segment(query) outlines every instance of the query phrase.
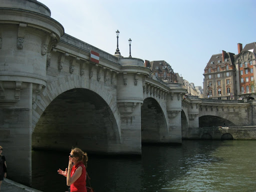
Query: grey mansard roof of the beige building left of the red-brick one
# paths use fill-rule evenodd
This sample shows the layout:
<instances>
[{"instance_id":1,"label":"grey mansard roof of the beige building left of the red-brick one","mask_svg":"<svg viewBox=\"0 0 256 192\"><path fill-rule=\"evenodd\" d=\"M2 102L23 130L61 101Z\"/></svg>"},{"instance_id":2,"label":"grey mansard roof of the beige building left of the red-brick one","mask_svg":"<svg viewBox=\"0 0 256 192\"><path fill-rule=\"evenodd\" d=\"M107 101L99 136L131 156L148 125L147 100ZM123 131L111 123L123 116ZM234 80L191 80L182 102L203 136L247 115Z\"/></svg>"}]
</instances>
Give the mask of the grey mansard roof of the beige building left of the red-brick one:
<instances>
[{"instance_id":1,"label":"grey mansard roof of the beige building left of the red-brick one","mask_svg":"<svg viewBox=\"0 0 256 192\"><path fill-rule=\"evenodd\" d=\"M206 70L208 67L211 67L213 69L216 68L217 66L225 67L226 63L228 63L229 65L233 64L234 63L234 53L225 52L225 51L223 51L223 52L224 52L224 58L222 58L222 53L211 55L204 70ZM225 61L225 59L227 59L227 61Z\"/></svg>"}]
</instances>

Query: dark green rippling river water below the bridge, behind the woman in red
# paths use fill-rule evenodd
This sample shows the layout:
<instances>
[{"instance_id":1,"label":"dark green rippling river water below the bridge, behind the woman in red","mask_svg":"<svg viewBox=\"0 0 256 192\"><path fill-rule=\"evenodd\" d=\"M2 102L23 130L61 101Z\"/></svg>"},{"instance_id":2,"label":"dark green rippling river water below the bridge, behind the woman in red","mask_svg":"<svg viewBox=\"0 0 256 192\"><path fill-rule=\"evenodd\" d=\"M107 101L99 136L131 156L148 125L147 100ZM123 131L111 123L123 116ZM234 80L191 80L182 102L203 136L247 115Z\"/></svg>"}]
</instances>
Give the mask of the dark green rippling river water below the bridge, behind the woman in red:
<instances>
[{"instance_id":1,"label":"dark green rippling river water below the bridge, behind the woman in red","mask_svg":"<svg viewBox=\"0 0 256 192\"><path fill-rule=\"evenodd\" d=\"M142 145L141 157L93 156L87 171L95 192L256 191L256 140L183 140ZM67 190L66 152L32 151L32 187Z\"/></svg>"}]
</instances>

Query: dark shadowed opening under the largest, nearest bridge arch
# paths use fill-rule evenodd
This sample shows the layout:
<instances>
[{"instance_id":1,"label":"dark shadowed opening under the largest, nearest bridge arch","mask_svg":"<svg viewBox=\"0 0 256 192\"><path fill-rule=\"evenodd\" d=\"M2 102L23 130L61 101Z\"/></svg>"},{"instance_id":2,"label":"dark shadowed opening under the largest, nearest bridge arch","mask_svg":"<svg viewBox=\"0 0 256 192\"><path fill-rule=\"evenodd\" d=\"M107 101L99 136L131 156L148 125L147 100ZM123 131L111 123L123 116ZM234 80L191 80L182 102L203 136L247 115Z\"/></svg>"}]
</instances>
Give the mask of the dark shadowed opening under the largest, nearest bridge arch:
<instances>
[{"instance_id":1,"label":"dark shadowed opening under the largest, nearest bridge arch","mask_svg":"<svg viewBox=\"0 0 256 192\"><path fill-rule=\"evenodd\" d=\"M33 149L107 152L120 143L116 119L105 100L86 88L73 88L55 97L32 132Z\"/></svg>"}]
</instances>

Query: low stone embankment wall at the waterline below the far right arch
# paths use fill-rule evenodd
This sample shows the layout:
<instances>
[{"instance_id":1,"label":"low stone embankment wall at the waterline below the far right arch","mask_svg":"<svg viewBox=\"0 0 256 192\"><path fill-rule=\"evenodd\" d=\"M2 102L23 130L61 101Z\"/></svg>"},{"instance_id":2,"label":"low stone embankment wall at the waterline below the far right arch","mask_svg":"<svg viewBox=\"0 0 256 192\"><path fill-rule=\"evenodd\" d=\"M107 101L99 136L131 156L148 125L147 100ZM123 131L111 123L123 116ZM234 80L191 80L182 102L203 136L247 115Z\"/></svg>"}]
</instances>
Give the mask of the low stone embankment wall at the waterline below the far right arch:
<instances>
[{"instance_id":1,"label":"low stone embankment wall at the waterline below the far right arch","mask_svg":"<svg viewBox=\"0 0 256 192\"><path fill-rule=\"evenodd\" d=\"M212 126L190 128L182 139L256 140L256 126Z\"/></svg>"}]
</instances>

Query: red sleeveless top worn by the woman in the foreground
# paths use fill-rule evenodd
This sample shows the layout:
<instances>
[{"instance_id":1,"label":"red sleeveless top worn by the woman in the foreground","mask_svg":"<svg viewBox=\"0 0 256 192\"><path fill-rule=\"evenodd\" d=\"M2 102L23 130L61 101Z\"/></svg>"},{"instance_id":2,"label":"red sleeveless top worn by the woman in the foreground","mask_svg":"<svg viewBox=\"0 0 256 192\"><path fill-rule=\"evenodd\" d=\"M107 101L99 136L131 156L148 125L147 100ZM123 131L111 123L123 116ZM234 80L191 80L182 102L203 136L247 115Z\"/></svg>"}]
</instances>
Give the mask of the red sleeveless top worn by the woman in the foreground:
<instances>
[{"instance_id":1,"label":"red sleeveless top worn by the woman in the foreground","mask_svg":"<svg viewBox=\"0 0 256 192\"><path fill-rule=\"evenodd\" d=\"M79 178L77 178L76 181L74 181L71 185L70 185L70 192L87 192L86 190L86 169L84 164L82 163L82 161L78 162L76 165L74 165L71 169L71 177L73 175L73 173L75 172L75 170L78 168L78 166L82 167L82 173L79 176Z\"/></svg>"}]
</instances>

